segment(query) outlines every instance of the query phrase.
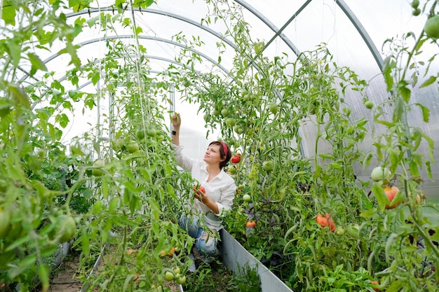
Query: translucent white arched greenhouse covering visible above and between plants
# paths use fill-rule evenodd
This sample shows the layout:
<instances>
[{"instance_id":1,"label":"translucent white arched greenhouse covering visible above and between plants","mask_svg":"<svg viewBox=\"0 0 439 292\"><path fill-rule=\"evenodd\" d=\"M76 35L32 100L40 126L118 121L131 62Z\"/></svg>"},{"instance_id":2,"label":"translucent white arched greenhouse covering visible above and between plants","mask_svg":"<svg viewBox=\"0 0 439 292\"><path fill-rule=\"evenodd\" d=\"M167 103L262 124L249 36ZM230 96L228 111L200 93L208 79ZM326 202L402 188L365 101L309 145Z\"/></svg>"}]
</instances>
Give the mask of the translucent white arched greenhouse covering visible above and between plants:
<instances>
[{"instance_id":1,"label":"translucent white arched greenhouse covering visible above and between plants","mask_svg":"<svg viewBox=\"0 0 439 292\"><path fill-rule=\"evenodd\" d=\"M3 1L2 18L6 22L10 22L12 16L15 16L11 14L11 6L8 6L13 3L20 1ZM61 2L50 0L48 3L41 2L35 5L41 9L49 9L50 6L59 3ZM190 68L199 74L222 76L221 78L229 84L236 82L231 78L231 73L236 71L237 60L246 62L248 66L254 67L255 71L260 71L259 64L255 62L258 57L267 61L292 64L298 58L303 58L306 52L325 48L331 56L331 62L335 62L339 67L349 68L366 83L363 92L344 92L344 102L352 109L353 120L363 116L372 119L372 113L363 106L365 99L372 100L374 104L389 99L391 93L386 90L386 82L381 73L386 66L384 60L394 53L396 44L410 47L422 33L428 18L428 7L425 6L420 15L415 15L417 13L414 13L414 8L403 0L74 0L69 1L69 4L62 8L62 12L67 24L72 27L76 25L77 31L73 32L75 37L72 46L66 46L65 41L57 41L56 37L50 50L42 48L43 46L34 46L32 51L43 62L41 68L45 70L32 72L31 69L40 61L30 60L31 58L29 62L23 61L18 67L21 73L17 74L21 83L39 82L46 78L46 72L53 72L53 78L64 84L68 90L97 90L100 83L83 76L75 77L78 80L72 85L72 69L80 70L88 64L100 64L102 69L104 62L109 59L106 55L109 48L117 46L119 41L124 46L131 46L133 50L112 58L121 63L126 62L127 58L147 60L149 74L151 78L156 78L156 81L169 78L170 68L177 71L178 68ZM102 15L106 15L105 20ZM4 25L3 22L2 26ZM16 22L13 25L20 29L26 26L26 22ZM33 29L50 31L44 24ZM233 37L237 29L245 31L245 39ZM5 36L10 36L11 33L4 29ZM423 54L419 55L417 64L428 62L428 57L436 52L436 43L424 43ZM198 62L189 60L191 57ZM400 60L404 60L405 57L407 56L401 55ZM2 60L5 62L7 59L3 57ZM294 69L285 65L284 74L294 74ZM417 74L417 83L411 89L412 102L424 104L430 110L430 122L422 122L421 111L412 111L407 118L430 137L439 137L437 86L419 88L428 78L422 74L422 70L419 69L421 73ZM438 62L428 62L428 70L438 71ZM99 77L97 79L100 81ZM411 82L414 83L413 80ZM172 99L175 99L174 95L177 99L175 104L178 104L182 92L173 92ZM38 107L42 101L35 102L33 106ZM184 111L194 105L182 102L180 106L182 107L177 108L178 111ZM391 108L386 106L384 105L384 109L390 111ZM84 127L100 123L100 117L97 116L108 110L106 106L102 106L101 111L90 113L90 120L76 119L65 139L78 134L74 129L81 132L81 123ZM204 131L202 115L193 116L193 130L199 134ZM377 131L379 132L379 129ZM312 141L316 137L316 124L303 123L299 134L302 137L302 155L310 157L314 148ZM370 143L366 138L365 148ZM438 174L439 171L435 169L434 172Z\"/></svg>"}]
</instances>

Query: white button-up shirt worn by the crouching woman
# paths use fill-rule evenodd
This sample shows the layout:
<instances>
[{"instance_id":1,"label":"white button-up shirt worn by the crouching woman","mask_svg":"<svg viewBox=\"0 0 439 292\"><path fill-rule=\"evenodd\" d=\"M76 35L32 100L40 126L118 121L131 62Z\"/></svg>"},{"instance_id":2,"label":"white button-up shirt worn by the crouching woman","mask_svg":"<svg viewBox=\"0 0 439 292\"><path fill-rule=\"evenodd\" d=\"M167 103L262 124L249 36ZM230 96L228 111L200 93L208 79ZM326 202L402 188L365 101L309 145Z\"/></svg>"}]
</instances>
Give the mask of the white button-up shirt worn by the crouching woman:
<instances>
[{"instance_id":1,"label":"white button-up shirt worn by the crouching woman","mask_svg":"<svg viewBox=\"0 0 439 292\"><path fill-rule=\"evenodd\" d=\"M217 204L219 213L215 214L209 207L203 204L203 202L198 200L194 200L191 209L193 209L194 213L198 216L204 214L203 218L208 228L220 230L223 228L222 216L231 210L234 202L236 193L235 180L224 172L224 170L221 170L217 176L208 182L208 167L205 162L184 155L183 146L181 145L175 146L175 144L172 144L172 146L177 164L182 167L182 169L191 172L192 177L199 181L205 188L205 194L209 200Z\"/></svg>"}]
</instances>

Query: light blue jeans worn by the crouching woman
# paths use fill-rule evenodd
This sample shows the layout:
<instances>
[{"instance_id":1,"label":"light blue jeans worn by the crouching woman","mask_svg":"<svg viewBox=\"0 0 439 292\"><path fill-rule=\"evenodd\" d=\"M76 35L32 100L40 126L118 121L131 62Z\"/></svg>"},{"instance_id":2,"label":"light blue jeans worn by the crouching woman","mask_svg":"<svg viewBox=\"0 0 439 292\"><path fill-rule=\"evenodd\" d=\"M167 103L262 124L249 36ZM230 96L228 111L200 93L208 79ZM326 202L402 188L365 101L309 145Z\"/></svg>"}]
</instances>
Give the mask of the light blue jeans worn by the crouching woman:
<instances>
[{"instance_id":1,"label":"light blue jeans worn by the crouching woman","mask_svg":"<svg viewBox=\"0 0 439 292\"><path fill-rule=\"evenodd\" d=\"M217 232L206 232L199 223L200 218L195 215L187 216L182 214L178 219L180 228L186 230L189 235L195 238L195 246L201 254L212 255L217 252Z\"/></svg>"}]
</instances>

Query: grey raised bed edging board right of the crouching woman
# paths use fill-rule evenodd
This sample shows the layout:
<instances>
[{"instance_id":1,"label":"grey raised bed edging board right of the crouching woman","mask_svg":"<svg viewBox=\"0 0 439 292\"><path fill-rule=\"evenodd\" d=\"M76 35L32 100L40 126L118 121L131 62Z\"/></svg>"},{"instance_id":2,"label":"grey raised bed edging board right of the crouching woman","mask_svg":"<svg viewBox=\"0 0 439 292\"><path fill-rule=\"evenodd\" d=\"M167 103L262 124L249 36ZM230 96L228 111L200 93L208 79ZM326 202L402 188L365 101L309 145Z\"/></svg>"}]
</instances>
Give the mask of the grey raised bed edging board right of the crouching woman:
<instances>
[{"instance_id":1,"label":"grey raised bed edging board right of the crouching woman","mask_svg":"<svg viewBox=\"0 0 439 292\"><path fill-rule=\"evenodd\" d=\"M221 237L220 251L222 261L226 267L236 274L241 272L239 268L248 267L257 269L261 279L262 292L293 292L281 279L271 272L263 263L247 251L227 230L219 231Z\"/></svg>"}]
</instances>

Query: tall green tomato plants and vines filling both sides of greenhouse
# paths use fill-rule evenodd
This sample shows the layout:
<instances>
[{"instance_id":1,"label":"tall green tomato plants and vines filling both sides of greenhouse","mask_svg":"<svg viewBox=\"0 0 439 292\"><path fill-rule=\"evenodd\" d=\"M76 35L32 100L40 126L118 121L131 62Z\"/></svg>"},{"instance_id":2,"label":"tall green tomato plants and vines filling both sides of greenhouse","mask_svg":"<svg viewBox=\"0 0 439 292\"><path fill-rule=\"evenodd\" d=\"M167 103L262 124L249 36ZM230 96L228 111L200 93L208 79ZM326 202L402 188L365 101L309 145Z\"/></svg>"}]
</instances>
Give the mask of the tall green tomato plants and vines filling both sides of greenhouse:
<instances>
[{"instance_id":1,"label":"tall green tomato plants and vines filling both sides of greenhouse","mask_svg":"<svg viewBox=\"0 0 439 292\"><path fill-rule=\"evenodd\" d=\"M170 152L165 120L174 85L186 102L200 104L206 134L220 127L232 151L241 153L231 171L240 192L224 225L294 291L372 291L371 281L387 291L435 291L438 207L422 194L423 174L433 179L434 145L417 124L430 122L428 106L413 102L414 87L437 83L431 73L436 55L422 60L423 49L435 41L424 31L384 43L389 99L379 102L365 96L367 82L339 67L324 43L294 62L286 55L269 60L264 42L250 37L248 23L229 1L206 1L214 13L201 20L207 26L224 22L224 40L236 43L229 74L196 71L203 59L192 49L203 41L179 33L174 40L185 47L175 60L182 66L170 64L158 78L151 78L147 48L141 45L107 39L102 60L83 64L77 55L74 40L84 26L116 32L123 25L133 36L142 33L124 15L128 1L114 1L117 13L80 16L74 23L67 21L65 9L82 11L91 1L43 2L23 6L7 0L1 14L6 24L0 40L2 287L30 289L39 279L47 288L50 256L64 237L60 230L67 216L81 227L73 230L72 244L81 251L79 277L89 288L153 290L165 286L166 269L187 272L188 263L182 262L193 239L176 222L194 181L177 169ZM153 2L133 7L141 10ZM414 16L437 14L435 1L413 1L412 8ZM414 45L407 46L409 41ZM58 54L70 58L64 79L48 71L36 50L51 51L55 43L62 43ZM219 69L226 45L217 43ZM22 68L38 80L22 79ZM77 89L83 80L99 83L99 91ZM374 100L373 119L353 118L348 96ZM72 123L67 113L80 106L83 112L100 109L102 97L112 100L111 114L63 144ZM419 111L422 120L411 120L410 111ZM316 129L309 158L304 158L304 127ZM367 134L373 148L362 153ZM102 165L94 165L96 159ZM264 167L267 161L273 169ZM390 169L389 184L358 179L357 169L374 164ZM395 209L386 209L386 185L401 190ZM243 200L245 194L250 202ZM316 223L325 213L335 232ZM247 228L248 221L256 226ZM89 277L100 255L104 268ZM188 275L187 287L214 288L219 279L213 272L201 267ZM228 273L224 267L219 272ZM222 287L230 291L259 291L254 271L228 276Z\"/></svg>"}]
</instances>

